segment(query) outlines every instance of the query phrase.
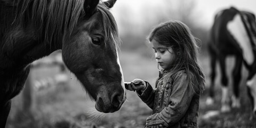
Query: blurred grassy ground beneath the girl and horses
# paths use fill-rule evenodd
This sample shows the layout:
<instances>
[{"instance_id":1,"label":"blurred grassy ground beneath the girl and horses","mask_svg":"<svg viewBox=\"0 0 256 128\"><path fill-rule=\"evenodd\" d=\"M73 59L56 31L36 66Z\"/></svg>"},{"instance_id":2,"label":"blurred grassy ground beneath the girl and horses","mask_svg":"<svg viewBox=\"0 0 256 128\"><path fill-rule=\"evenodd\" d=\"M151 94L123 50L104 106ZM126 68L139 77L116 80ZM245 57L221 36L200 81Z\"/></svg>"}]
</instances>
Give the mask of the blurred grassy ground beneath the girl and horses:
<instances>
[{"instance_id":1,"label":"blurred grassy ground beneath the girl and horses","mask_svg":"<svg viewBox=\"0 0 256 128\"><path fill-rule=\"evenodd\" d=\"M124 72L125 81L141 78L154 85L158 75L156 62L150 58L149 53L122 52L119 55ZM206 84L209 85L209 58L207 55L200 57L206 75ZM228 61L233 61L229 59ZM228 70L233 65L229 62ZM219 70L219 69L218 69ZM41 73L41 74L39 74ZM36 78L50 76L58 73L57 67L41 68L31 71ZM77 79L71 74L67 85L59 85L57 90L50 90L44 94L34 94L34 105L31 114L25 113L22 107L21 94L13 99L11 113L7 128L23 127L143 127L151 110L143 103L135 92L127 92L127 101L121 110L113 114L99 114ZM230 75L230 73L228 74ZM243 76L246 71L243 70ZM216 80L216 102L213 106L206 106L205 99L208 90L202 94L199 113L199 127L256 127L255 117L251 114L250 102L246 94L245 85L241 85L240 109L233 109L230 113L221 113L211 118L203 118L208 111L220 109L220 82ZM242 83L245 83L244 79ZM207 86L208 87L208 86ZM231 87L230 87L231 89Z\"/></svg>"}]
</instances>

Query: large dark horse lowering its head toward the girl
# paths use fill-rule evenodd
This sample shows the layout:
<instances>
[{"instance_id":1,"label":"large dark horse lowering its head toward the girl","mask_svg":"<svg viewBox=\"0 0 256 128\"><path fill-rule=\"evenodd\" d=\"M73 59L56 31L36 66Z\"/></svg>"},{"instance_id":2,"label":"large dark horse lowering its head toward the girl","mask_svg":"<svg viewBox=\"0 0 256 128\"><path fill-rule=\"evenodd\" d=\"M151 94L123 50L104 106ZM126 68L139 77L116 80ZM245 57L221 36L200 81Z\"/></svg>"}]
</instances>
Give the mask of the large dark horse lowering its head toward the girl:
<instances>
[{"instance_id":1,"label":"large dark horse lowering its head toward the girl","mask_svg":"<svg viewBox=\"0 0 256 128\"><path fill-rule=\"evenodd\" d=\"M62 50L62 58L103 113L126 100L117 49L116 0L0 0L0 127L23 89L30 63Z\"/></svg>"}]
</instances>

